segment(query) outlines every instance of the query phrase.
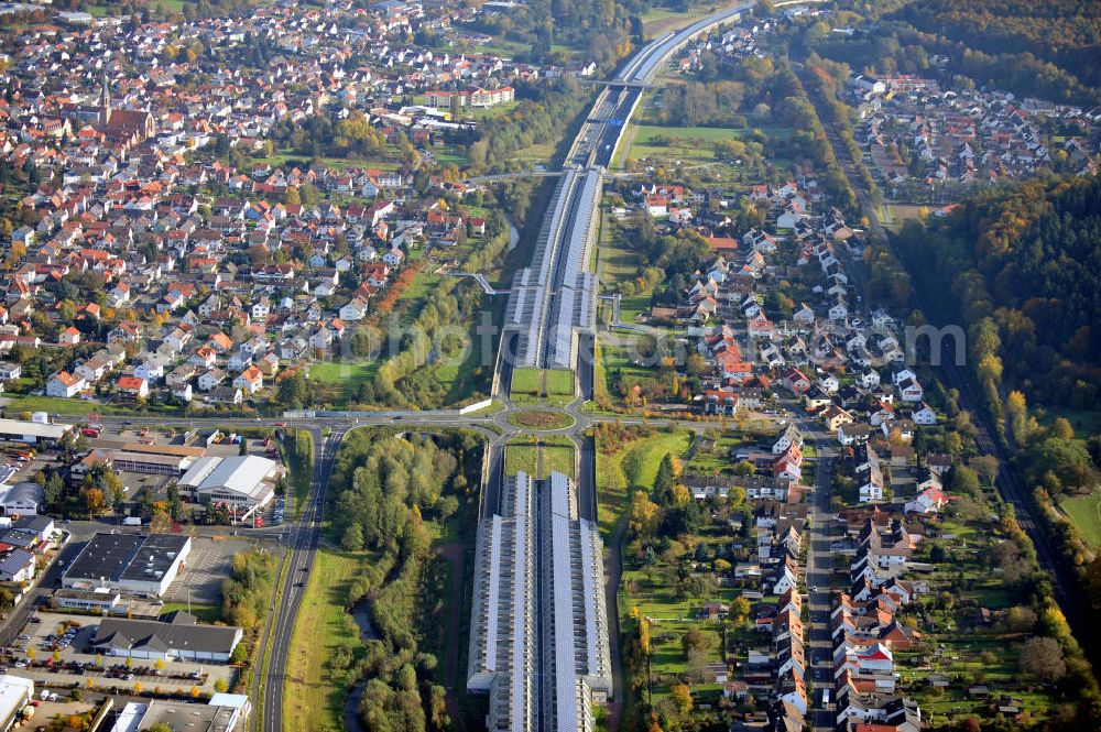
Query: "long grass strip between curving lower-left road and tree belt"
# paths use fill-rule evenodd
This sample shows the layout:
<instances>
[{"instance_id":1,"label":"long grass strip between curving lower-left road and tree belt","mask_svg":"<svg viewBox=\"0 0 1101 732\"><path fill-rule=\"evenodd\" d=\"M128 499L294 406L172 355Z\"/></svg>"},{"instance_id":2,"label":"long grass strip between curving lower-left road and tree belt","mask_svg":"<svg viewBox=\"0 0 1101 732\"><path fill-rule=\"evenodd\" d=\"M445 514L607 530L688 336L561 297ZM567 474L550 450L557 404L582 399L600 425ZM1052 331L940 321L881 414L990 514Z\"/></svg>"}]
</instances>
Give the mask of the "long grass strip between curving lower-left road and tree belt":
<instances>
[{"instance_id":1,"label":"long grass strip between curving lower-left road and tree belt","mask_svg":"<svg viewBox=\"0 0 1101 732\"><path fill-rule=\"evenodd\" d=\"M328 662L340 645L353 649L362 645L351 615L345 612L345 598L366 556L326 548L316 555L291 636L283 687L284 730L344 729L341 711L350 679L334 673Z\"/></svg>"}]
</instances>

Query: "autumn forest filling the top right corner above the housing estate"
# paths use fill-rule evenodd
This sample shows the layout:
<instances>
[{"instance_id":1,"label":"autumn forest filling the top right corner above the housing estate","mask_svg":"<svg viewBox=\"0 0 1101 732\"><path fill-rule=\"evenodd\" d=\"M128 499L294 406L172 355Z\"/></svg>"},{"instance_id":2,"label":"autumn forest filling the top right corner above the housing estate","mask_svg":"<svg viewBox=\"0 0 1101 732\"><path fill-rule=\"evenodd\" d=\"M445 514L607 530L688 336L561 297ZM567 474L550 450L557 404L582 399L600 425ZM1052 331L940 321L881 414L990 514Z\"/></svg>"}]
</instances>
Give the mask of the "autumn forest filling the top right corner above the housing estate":
<instances>
[{"instance_id":1,"label":"autumn forest filling the top right corner above the housing estate","mask_svg":"<svg viewBox=\"0 0 1101 732\"><path fill-rule=\"evenodd\" d=\"M1082 0L929 0L846 3L839 25L825 23L804 41L857 72L966 77L1022 96L1083 106L1101 101L1101 4ZM861 26L860 20L871 21ZM945 64L935 63L940 56Z\"/></svg>"}]
</instances>

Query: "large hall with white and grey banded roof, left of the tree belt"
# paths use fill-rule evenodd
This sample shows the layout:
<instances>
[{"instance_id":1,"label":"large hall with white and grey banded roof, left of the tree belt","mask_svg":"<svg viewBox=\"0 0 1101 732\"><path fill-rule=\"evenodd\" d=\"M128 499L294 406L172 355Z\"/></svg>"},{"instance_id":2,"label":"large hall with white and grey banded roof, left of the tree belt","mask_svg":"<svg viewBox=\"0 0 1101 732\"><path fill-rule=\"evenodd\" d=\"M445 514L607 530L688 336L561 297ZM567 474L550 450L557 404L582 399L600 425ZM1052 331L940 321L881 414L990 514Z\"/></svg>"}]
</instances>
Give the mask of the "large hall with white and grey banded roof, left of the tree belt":
<instances>
[{"instance_id":1,"label":"large hall with white and grey banded roof, left of the tree belt","mask_svg":"<svg viewBox=\"0 0 1101 732\"><path fill-rule=\"evenodd\" d=\"M179 479L179 492L197 503L226 503L243 520L275 495L283 466L255 455L207 457Z\"/></svg>"}]
</instances>

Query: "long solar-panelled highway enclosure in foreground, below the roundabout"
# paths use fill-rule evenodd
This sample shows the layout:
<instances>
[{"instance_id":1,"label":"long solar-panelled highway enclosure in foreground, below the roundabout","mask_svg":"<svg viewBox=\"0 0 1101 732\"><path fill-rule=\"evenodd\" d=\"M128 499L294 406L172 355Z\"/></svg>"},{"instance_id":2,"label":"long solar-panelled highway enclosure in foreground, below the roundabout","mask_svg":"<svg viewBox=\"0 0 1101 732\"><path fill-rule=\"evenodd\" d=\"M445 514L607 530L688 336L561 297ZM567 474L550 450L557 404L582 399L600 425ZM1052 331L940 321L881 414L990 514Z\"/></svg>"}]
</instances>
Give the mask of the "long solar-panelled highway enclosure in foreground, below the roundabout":
<instances>
[{"instance_id":1,"label":"long solar-panelled highway enclosure in foreground, below the roundabout","mask_svg":"<svg viewBox=\"0 0 1101 732\"><path fill-rule=\"evenodd\" d=\"M593 730L609 647L600 534L574 482L506 478L475 554L467 689L489 695L488 729Z\"/></svg>"}]
</instances>

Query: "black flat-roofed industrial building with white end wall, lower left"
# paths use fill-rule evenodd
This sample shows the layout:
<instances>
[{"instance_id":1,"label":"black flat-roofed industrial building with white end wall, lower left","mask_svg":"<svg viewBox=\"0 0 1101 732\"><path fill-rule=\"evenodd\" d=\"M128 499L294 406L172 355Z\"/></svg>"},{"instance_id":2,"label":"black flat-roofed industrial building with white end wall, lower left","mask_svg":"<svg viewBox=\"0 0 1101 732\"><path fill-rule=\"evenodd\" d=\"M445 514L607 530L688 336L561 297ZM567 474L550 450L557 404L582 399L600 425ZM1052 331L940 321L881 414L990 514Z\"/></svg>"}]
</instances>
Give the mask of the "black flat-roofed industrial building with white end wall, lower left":
<instances>
[{"instance_id":1,"label":"black flat-roofed industrial building with white end wall, lower left","mask_svg":"<svg viewBox=\"0 0 1101 732\"><path fill-rule=\"evenodd\" d=\"M62 575L62 587L106 587L160 597L176 579L190 550L192 539L175 534L96 534Z\"/></svg>"}]
</instances>

